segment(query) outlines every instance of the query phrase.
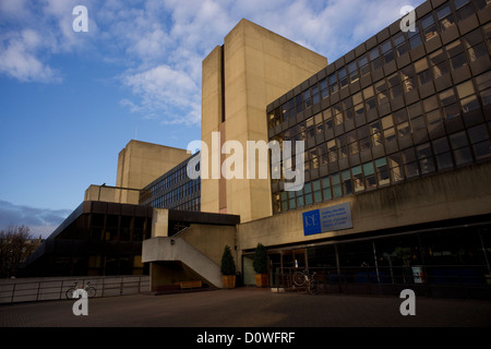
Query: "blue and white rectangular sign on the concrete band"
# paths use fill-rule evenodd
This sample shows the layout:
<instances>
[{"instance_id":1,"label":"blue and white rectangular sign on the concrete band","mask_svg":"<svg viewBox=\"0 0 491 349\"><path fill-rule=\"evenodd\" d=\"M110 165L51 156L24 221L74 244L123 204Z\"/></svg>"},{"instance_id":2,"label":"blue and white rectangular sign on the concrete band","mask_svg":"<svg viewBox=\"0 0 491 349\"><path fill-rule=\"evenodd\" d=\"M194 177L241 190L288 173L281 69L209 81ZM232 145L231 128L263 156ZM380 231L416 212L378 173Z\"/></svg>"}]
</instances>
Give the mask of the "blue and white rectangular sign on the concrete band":
<instances>
[{"instance_id":1,"label":"blue and white rectangular sign on the concrete band","mask_svg":"<svg viewBox=\"0 0 491 349\"><path fill-rule=\"evenodd\" d=\"M304 212L303 234L352 228L349 203Z\"/></svg>"}]
</instances>

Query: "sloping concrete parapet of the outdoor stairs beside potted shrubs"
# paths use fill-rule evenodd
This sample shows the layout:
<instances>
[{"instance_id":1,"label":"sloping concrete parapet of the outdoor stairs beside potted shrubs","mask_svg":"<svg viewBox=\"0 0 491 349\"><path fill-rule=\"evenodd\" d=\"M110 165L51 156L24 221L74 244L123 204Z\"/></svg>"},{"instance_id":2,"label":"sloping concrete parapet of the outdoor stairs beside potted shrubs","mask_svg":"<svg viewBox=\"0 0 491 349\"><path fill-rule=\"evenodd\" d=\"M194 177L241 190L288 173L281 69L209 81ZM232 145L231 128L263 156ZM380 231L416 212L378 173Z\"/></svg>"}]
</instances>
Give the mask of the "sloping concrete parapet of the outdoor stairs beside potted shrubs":
<instances>
[{"instance_id":1,"label":"sloping concrete parapet of the outdoor stairs beside potted shrubs","mask_svg":"<svg viewBox=\"0 0 491 349\"><path fill-rule=\"evenodd\" d=\"M180 237L156 237L144 240L142 262L181 262L211 286L223 287L220 267Z\"/></svg>"}]
</instances>

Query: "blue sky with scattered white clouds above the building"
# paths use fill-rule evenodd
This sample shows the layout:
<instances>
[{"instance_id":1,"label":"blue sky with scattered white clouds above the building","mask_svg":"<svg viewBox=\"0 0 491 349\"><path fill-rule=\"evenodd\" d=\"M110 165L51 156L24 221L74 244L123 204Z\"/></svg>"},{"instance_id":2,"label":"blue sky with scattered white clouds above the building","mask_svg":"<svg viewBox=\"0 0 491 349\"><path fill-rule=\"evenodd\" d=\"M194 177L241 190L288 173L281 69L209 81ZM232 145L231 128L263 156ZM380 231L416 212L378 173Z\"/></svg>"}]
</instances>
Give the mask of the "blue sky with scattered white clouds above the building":
<instances>
[{"instance_id":1,"label":"blue sky with scattered white clouds above the building","mask_svg":"<svg viewBox=\"0 0 491 349\"><path fill-rule=\"evenodd\" d=\"M202 60L242 17L333 62L422 2L0 0L0 229L47 237L132 139L199 140Z\"/></svg>"}]
</instances>

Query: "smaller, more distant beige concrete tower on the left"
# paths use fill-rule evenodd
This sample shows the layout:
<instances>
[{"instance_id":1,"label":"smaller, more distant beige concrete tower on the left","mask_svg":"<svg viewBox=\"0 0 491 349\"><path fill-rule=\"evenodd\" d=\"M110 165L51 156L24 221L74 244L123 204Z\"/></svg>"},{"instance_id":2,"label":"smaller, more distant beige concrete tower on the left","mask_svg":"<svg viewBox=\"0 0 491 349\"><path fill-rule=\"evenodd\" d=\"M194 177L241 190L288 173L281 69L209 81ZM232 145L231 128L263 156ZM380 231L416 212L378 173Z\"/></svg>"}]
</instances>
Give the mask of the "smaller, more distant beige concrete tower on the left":
<instances>
[{"instance_id":1,"label":"smaller, more distant beige concrete tower on the left","mask_svg":"<svg viewBox=\"0 0 491 349\"><path fill-rule=\"evenodd\" d=\"M116 186L143 189L190 156L185 149L132 140L119 153ZM139 192L116 190L115 200L137 204Z\"/></svg>"}]
</instances>

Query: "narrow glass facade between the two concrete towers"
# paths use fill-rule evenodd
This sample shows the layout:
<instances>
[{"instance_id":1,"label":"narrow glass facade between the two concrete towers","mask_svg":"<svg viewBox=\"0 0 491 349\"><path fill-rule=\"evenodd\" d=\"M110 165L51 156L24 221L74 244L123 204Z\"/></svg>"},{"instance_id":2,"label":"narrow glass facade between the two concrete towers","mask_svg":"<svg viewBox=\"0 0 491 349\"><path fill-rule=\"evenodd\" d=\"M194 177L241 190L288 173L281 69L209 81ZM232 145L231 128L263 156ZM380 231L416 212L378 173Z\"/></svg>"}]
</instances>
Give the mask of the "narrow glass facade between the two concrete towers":
<instances>
[{"instance_id":1,"label":"narrow glass facade between the two concrete towers","mask_svg":"<svg viewBox=\"0 0 491 349\"><path fill-rule=\"evenodd\" d=\"M190 179L187 172L188 163L196 156L200 156L200 153L145 186L140 194L140 204L156 208L200 212L201 180Z\"/></svg>"}]
</instances>

